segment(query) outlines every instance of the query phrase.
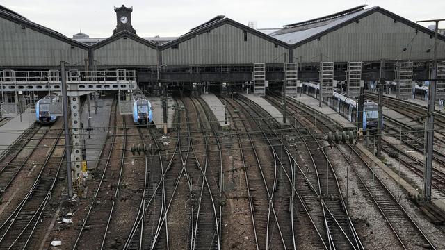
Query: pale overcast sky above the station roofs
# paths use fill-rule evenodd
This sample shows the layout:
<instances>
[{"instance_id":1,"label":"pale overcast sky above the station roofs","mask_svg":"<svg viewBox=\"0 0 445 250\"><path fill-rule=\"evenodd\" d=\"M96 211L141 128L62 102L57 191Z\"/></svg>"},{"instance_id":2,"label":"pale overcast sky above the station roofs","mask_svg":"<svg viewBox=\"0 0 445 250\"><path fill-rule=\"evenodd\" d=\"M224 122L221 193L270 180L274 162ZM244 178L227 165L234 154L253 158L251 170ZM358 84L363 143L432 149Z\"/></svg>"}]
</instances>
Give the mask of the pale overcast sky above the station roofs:
<instances>
[{"instance_id":1,"label":"pale overcast sky above the station roofs","mask_svg":"<svg viewBox=\"0 0 445 250\"><path fill-rule=\"evenodd\" d=\"M116 26L113 6L122 4L133 6L133 28L138 35L147 37L179 36L216 15L225 15L245 25L255 21L257 28L280 28L365 2L369 7L380 6L414 22L445 19L445 0L3 0L0 4L68 37L81 29L90 38L104 38L112 35ZM445 28L445 22L439 28Z\"/></svg>"}]
</instances>

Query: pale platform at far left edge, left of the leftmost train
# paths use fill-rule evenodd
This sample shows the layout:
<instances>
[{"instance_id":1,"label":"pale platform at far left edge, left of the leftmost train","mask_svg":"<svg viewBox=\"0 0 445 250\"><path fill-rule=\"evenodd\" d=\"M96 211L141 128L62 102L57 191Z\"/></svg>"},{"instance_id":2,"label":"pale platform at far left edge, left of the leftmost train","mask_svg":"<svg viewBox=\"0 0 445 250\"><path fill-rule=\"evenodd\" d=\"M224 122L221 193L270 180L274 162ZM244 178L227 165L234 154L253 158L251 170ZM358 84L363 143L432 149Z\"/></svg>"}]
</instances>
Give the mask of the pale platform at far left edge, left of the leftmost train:
<instances>
[{"instance_id":1,"label":"pale platform at far left edge, left of the leftmost train","mask_svg":"<svg viewBox=\"0 0 445 250\"><path fill-rule=\"evenodd\" d=\"M22 133L33 126L35 122L35 110L27 108L24 113L22 113L22 121L20 121L20 115L10 119L8 122L0 127L0 156L14 144Z\"/></svg>"}]
</instances>

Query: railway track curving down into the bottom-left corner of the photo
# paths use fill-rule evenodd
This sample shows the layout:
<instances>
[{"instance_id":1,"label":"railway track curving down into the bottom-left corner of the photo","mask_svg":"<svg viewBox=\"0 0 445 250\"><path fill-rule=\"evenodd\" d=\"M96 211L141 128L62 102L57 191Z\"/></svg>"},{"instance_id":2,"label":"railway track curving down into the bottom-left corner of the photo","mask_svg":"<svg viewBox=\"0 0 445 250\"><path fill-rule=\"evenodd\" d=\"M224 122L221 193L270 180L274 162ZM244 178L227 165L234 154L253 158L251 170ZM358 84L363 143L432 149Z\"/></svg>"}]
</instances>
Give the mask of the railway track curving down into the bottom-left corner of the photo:
<instances>
[{"instance_id":1,"label":"railway track curving down into the bottom-left corner of the photo","mask_svg":"<svg viewBox=\"0 0 445 250\"><path fill-rule=\"evenodd\" d=\"M0 249L24 249L31 240L63 165L65 150L57 150L63 145L62 133L63 131L60 130L56 143L47 154L32 188L13 213L10 213L1 224Z\"/></svg>"}]
</instances>

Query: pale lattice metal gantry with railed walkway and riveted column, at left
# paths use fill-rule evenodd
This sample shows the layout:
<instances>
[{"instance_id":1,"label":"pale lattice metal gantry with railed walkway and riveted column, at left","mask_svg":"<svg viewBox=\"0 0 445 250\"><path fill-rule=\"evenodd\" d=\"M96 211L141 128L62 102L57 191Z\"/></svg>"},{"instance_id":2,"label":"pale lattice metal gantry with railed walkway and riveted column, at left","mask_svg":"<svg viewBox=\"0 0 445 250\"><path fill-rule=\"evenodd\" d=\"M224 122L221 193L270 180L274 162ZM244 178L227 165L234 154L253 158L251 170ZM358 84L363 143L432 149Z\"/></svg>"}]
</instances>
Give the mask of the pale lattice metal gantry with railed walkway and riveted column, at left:
<instances>
[{"instance_id":1,"label":"pale lattice metal gantry with railed walkway and riveted column, at left","mask_svg":"<svg viewBox=\"0 0 445 250\"><path fill-rule=\"evenodd\" d=\"M96 91L129 91L137 88L136 72L133 70L117 69L113 71L79 71L69 70L61 74L59 70L47 71L14 71L6 69L1 71L0 84L2 96L5 92L63 92L63 84L66 83L67 96L70 97L72 145L71 153L72 176L79 178L81 175L81 162L83 160L81 148L81 110L80 97ZM66 73L66 74L65 74ZM65 76L65 77L63 77ZM17 96L17 94L15 94ZM3 99L4 100L4 99ZM13 105L17 106L16 103ZM8 103L10 104L10 103ZM63 115L60 112L63 103L56 101L50 104L50 110L56 111L54 115ZM2 105L3 108L8 106ZM2 113L3 114L3 113Z\"/></svg>"}]
</instances>

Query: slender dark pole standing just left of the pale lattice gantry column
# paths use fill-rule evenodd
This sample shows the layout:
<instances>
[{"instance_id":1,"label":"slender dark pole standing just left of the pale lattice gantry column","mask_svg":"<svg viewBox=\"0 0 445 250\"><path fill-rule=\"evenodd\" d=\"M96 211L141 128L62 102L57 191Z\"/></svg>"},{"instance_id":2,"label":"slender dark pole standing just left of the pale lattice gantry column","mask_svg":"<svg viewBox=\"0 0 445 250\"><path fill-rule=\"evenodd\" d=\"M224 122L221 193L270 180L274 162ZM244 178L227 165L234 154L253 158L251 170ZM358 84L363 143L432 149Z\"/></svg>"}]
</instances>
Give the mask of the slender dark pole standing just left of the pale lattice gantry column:
<instances>
[{"instance_id":1,"label":"slender dark pole standing just left of the pale lattice gantry column","mask_svg":"<svg viewBox=\"0 0 445 250\"><path fill-rule=\"evenodd\" d=\"M68 127L68 95L67 81L65 76L65 62L60 62L60 78L62 79L62 101L63 101L63 126L65 128L65 158L67 161L67 181L68 197L72 197L72 176L71 176L71 144L70 128Z\"/></svg>"}]
</instances>

